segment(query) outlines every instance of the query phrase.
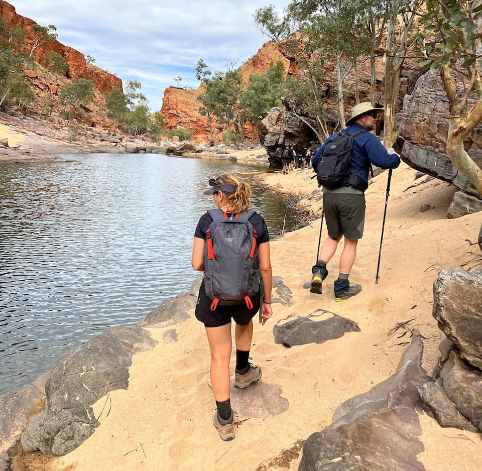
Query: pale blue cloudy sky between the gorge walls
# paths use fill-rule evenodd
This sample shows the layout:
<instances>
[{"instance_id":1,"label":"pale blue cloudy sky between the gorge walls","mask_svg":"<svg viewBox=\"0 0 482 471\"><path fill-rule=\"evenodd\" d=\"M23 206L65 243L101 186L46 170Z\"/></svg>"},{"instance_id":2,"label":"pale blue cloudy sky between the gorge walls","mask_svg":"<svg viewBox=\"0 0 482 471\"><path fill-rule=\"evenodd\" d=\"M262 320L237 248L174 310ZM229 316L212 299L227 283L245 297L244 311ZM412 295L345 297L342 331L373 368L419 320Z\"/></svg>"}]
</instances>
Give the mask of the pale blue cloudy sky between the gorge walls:
<instances>
[{"instance_id":1,"label":"pale blue cloudy sky between the gorge walls","mask_svg":"<svg viewBox=\"0 0 482 471\"><path fill-rule=\"evenodd\" d=\"M211 72L235 68L254 56L268 38L255 25L257 8L289 0L9 0L19 15L41 26L55 25L58 41L95 59L95 65L141 82L152 112L164 89L197 88L195 67Z\"/></svg>"}]
</instances>

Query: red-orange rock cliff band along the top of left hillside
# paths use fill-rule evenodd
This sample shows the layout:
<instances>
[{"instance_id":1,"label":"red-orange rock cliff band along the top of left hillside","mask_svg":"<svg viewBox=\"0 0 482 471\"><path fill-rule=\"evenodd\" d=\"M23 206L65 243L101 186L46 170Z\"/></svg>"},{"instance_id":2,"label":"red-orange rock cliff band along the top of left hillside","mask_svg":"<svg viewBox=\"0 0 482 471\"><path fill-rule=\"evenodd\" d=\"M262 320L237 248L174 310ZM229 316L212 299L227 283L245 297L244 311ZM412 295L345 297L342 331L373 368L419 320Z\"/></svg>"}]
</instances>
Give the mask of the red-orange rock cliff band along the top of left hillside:
<instances>
[{"instance_id":1,"label":"red-orange rock cliff band along the top of left hillside","mask_svg":"<svg viewBox=\"0 0 482 471\"><path fill-rule=\"evenodd\" d=\"M18 15L15 11L15 7L4 0L0 0L0 17L4 19L9 28L12 29L15 26L20 26L27 31L25 44L30 51L34 41L32 27L37 23L30 18ZM90 75L94 81L95 88L101 93L110 91L113 87L122 88L122 80L119 77L116 77L105 70L99 69L98 67L87 64L85 62L85 56L82 53L71 47L64 46L58 41L47 42L36 48L34 51L35 60L43 64L45 54L49 51L54 51L67 60L67 77L77 79L80 74L83 74L85 77Z\"/></svg>"}]
</instances>

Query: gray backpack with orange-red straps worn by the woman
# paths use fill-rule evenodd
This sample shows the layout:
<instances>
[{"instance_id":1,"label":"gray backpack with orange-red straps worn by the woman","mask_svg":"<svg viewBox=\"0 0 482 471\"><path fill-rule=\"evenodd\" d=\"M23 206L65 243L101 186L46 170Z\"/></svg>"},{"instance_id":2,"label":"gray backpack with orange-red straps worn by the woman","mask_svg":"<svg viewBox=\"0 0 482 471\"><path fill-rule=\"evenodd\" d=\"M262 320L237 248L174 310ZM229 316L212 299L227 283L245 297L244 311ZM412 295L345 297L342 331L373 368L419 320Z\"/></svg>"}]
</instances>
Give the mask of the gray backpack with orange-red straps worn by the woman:
<instances>
[{"instance_id":1,"label":"gray backpack with orange-red straps worn by the woman","mask_svg":"<svg viewBox=\"0 0 482 471\"><path fill-rule=\"evenodd\" d=\"M208 211L212 222L204 245L204 286L212 300L211 310L246 302L260 290L256 230L249 221L254 211L228 216L220 209Z\"/></svg>"}]
</instances>

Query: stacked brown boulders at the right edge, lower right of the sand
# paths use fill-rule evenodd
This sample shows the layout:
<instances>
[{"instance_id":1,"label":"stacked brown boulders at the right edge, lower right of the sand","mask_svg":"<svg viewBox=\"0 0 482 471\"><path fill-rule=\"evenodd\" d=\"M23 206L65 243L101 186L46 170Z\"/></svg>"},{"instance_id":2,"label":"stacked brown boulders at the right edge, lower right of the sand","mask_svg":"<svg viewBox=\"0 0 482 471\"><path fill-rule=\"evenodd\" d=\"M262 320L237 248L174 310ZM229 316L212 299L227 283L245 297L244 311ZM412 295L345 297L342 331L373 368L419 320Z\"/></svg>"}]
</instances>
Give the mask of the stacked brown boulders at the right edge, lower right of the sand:
<instances>
[{"instance_id":1,"label":"stacked brown boulders at the right edge, lower right of the sand","mask_svg":"<svg viewBox=\"0 0 482 471\"><path fill-rule=\"evenodd\" d=\"M441 270L433 316L447 335L433 383L419 388L424 409L442 427L482 431L482 270Z\"/></svg>"}]
</instances>

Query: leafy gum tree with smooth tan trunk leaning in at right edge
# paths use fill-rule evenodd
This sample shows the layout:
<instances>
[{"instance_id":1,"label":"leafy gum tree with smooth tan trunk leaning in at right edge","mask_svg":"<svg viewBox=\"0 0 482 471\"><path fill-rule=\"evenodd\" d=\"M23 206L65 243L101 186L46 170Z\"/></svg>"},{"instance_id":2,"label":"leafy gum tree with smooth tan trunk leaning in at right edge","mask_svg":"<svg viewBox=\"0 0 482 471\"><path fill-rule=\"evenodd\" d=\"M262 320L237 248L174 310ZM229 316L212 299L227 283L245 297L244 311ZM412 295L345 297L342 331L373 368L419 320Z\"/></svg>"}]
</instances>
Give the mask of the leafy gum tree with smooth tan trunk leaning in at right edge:
<instances>
[{"instance_id":1,"label":"leafy gum tree with smooth tan trunk leaning in at right edge","mask_svg":"<svg viewBox=\"0 0 482 471\"><path fill-rule=\"evenodd\" d=\"M426 65L439 71L450 109L446 152L482 196L482 170L464 149L464 139L482 122L482 5L480 0L429 0L426 8L423 22L440 42L425 48ZM469 107L471 95L476 100Z\"/></svg>"}]
</instances>

